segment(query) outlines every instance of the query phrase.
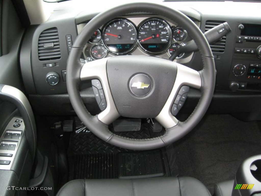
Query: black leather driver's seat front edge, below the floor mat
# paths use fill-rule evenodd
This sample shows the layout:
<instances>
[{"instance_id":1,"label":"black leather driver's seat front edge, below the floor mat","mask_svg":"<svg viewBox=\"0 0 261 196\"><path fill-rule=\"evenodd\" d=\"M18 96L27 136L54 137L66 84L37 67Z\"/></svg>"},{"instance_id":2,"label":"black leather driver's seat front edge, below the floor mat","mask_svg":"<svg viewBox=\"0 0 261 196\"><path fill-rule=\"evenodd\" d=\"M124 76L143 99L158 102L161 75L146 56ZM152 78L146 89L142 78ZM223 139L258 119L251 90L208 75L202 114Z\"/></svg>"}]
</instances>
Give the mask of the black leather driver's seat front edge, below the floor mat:
<instances>
[{"instance_id":1,"label":"black leather driver's seat front edge, below the floor mat","mask_svg":"<svg viewBox=\"0 0 261 196\"><path fill-rule=\"evenodd\" d=\"M208 189L192 177L73 180L57 196L210 196Z\"/></svg>"}]
</instances>

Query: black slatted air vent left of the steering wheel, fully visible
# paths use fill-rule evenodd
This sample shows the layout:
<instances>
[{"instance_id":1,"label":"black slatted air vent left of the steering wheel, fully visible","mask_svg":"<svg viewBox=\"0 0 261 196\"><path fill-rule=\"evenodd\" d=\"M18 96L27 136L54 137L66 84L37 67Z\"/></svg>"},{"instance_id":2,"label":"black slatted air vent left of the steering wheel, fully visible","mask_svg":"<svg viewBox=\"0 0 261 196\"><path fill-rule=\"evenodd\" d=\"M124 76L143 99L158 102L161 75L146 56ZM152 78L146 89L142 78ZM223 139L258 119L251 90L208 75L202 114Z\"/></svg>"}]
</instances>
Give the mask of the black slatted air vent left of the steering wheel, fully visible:
<instances>
[{"instance_id":1,"label":"black slatted air vent left of the steering wheel, fully visible","mask_svg":"<svg viewBox=\"0 0 261 196\"><path fill-rule=\"evenodd\" d=\"M61 58L61 50L57 28L43 31L38 40L38 57L40 61Z\"/></svg>"}]
</instances>

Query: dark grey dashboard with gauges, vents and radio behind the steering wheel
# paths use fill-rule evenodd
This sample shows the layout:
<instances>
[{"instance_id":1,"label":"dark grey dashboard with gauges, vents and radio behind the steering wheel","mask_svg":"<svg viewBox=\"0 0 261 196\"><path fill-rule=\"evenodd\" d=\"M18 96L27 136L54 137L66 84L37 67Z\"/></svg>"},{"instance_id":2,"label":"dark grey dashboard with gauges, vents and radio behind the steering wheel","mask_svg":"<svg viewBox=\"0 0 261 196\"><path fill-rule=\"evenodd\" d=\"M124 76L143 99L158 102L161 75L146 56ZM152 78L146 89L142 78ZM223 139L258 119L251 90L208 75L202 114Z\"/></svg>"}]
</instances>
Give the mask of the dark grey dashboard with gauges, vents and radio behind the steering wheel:
<instances>
[{"instance_id":1,"label":"dark grey dashboard with gauges, vents and radio behind the steering wheel","mask_svg":"<svg viewBox=\"0 0 261 196\"><path fill-rule=\"evenodd\" d=\"M261 3L161 4L179 9L202 32L223 22L231 28L230 33L210 44L216 65L216 87L209 110L212 113L261 112L261 18L253 14L259 13ZM231 9L233 7L237 9ZM98 13L91 10L73 13L68 9L57 9L54 13L46 22L32 25L24 36L20 55L22 78L32 106L40 114L75 114L67 94L67 59L82 28ZM190 33L175 19L133 13L100 26L90 40L86 40L80 58L83 63L117 55L151 55L168 59L176 48L191 41ZM203 67L198 51L181 54L174 61L197 71ZM91 82L80 83L79 89L88 110L99 113ZM200 92L191 89L182 111L193 111L199 98ZM260 115L252 117L259 119Z\"/></svg>"}]
</instances>

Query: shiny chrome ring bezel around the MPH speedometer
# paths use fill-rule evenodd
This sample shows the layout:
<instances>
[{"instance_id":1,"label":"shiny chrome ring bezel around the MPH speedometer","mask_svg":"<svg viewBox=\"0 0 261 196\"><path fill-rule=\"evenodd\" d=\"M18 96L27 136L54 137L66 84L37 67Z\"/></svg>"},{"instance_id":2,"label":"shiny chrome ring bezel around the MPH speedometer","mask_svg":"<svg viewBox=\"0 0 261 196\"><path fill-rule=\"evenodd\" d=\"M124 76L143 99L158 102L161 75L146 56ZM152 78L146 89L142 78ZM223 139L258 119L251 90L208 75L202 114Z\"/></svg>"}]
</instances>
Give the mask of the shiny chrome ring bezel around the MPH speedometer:
<instances>
[{"instance_id":1,"label":"shiny chrome ring bezel around the MPH speedometer","mask_svg":"<svg viewBox=\"0 0 261 196\"><path fill-rule=\"evenodd\" d=\"M150 20L156 20L156 21L160 21L162 22L162 24L164 24L166 27L167 27L167 30L169 32L169 42L167 44L167 46L162 49L162 51L159 51L159 52L150 52L148 50L146 50L145 48L143 48L143 46L141 45L140 41L139 41L139 32L140 32L140 29L141 27L147 22L147 21L150 21ZM138 28L138 32L137 32L137 37L138 37L138 43L139 43L139 46L141 47L141 49L143 49L146 53L149 53L149 54L162 54L164 53L166 50L169 49L171 43L172 43L172 39L173 39L173 36L172 36L172 31L171 31L171 28L169 26L169 24L167 23L167 21L163 20L163 19L160 19L160 18L147 18L146 20L142 21L140 24L139 24L139 28Z\"/></svg>"}]
</instances>

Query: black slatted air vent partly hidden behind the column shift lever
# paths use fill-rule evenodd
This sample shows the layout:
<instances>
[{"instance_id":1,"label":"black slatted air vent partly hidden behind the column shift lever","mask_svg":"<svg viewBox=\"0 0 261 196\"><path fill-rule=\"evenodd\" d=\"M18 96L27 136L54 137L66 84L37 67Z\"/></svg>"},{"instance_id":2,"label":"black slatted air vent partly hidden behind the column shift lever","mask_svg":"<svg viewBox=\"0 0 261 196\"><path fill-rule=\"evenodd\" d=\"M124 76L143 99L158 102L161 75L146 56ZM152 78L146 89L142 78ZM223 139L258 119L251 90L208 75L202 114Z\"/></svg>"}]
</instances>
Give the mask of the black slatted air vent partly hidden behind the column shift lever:
<instances>
[{"instance_id":1,"label":"black slatted air vent partly hidden behind the column shift lever","mask_svg":"<svg viewBox=\"0 0 261 196\"><path fill-rule=\"evenodd\" d=\"M205 26L205 32L211 28L224 23L225 21L207 20ZM220 40L210 45L212 52L223 53L226 47L226 36L223 36Z\"/></svg>"}]
</instances>

